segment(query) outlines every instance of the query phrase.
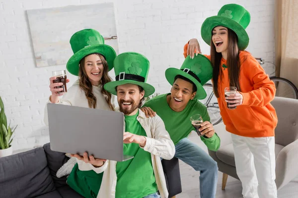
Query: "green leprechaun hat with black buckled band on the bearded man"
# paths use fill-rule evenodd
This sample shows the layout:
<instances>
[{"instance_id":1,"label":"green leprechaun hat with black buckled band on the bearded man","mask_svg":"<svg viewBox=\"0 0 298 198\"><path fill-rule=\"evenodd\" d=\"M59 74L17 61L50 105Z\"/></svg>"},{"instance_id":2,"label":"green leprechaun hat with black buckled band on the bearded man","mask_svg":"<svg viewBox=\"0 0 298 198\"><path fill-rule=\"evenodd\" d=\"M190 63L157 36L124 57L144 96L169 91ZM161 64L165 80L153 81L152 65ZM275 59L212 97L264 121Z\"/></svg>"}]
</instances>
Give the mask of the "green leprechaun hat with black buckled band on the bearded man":
<instances>
[{"instance_id":1,"label":"green leprechaun hat with black buckled band on the bearded man","mask_svg":"<svg viewBox=\"0 0 298 198\"><path fill-rule=\"evenodd\" d=\"M143 87L144 97L148 97L155 92L154 87L146 83L149 67L149 60L144 55L136 52L121 53L114 60L116 81L106 83L104 89L117 95L117 86L135 84Z\"/></svg>"}]
</instances>

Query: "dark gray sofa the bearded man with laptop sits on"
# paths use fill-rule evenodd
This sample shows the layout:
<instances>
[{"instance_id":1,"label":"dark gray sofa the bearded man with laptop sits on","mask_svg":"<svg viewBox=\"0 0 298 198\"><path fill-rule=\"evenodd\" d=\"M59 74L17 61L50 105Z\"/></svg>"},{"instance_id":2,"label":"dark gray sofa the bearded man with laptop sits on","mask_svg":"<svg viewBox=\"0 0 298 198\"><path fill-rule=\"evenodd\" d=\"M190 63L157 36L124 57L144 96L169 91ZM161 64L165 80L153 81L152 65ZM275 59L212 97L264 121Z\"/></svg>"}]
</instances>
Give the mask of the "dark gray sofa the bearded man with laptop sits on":
<instances>
[{"instance_id":1,"label":"dark gray sofa the bearded man with laptop sits on","mask_svg":"<svg viewBox=\"0 0 298 198\"><path fill-rule=\"evenodd\" d=\"M83 198L57 178L58 169L69 158L52 151L50 144L0 158L0 198ZM181 193L177 158L162 160L170 197Z\"/></svg>"}]
</instances>

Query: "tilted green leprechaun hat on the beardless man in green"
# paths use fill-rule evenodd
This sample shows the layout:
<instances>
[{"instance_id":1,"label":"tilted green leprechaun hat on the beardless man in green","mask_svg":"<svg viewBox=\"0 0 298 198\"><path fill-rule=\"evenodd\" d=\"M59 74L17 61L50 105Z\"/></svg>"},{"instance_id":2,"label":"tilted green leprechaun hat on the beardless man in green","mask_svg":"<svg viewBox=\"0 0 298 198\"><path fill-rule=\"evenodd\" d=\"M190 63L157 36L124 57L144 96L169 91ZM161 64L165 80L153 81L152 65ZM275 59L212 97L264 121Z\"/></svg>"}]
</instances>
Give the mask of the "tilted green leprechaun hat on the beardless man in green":
<instances>
[{"instance_id":1,"label":"tilted green leprechaun hat on the beardless man in green","mask_svg":"<svg viewBox=\"0 0 298 198\"><path fill-rule=\"evenodd\" d=\"M194 99L205 99L207 97L203 85L212 79L213 67L210 60L202 55L195 55L193 59L188 55L181 68L168 68L165 70L166 80L173 85L177 75L184 76L191 80L197 87L197 93Z\"/></svg>"}]
</instances>

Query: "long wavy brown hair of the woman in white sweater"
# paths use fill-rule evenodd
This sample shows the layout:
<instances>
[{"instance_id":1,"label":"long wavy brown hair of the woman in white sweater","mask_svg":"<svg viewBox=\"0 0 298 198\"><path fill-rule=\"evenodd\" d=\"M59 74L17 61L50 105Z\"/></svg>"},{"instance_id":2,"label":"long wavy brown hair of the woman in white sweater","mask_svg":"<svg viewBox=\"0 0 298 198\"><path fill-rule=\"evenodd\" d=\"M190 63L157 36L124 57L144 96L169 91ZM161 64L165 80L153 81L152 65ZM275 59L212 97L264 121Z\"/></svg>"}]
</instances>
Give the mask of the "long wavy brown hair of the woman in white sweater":
<instances>
[{"instance_id":1,"label":"long wavy brown hair of the woman in white sweater","mask_svg":"<svg viewBox=\"0 0 298 198\"><path fill-rule=\"evenodd\" d=\"M106 102L108 103L110 109L113 111L114 110L114 105L111 102L112 99L112 95L111 93L107 92L103 86L108 83L111 82L112 79L109 77L108 75L108 63L106 61L106 59L103 57L103 55L101 55L100 53L92 53L92 54L97 54L99 56L99 58L102 61L103 64L103 72L102 72L102 77L101 77L101 94L103 96L105 96ZM90 55L90 54L88 54ZM85 56L86 57L86 56ZM83 57L80 62L79 62L79 73L78 73L78 82L79 82L79 87L80 89L82 89L85 92L86 98L88 100L88 105L89 108L96 108L96 97L94 96L93 92L92 92L92 84L88 78L88 75L86 73L85 70L85 57Z\"/></svg>"}]
</instances>

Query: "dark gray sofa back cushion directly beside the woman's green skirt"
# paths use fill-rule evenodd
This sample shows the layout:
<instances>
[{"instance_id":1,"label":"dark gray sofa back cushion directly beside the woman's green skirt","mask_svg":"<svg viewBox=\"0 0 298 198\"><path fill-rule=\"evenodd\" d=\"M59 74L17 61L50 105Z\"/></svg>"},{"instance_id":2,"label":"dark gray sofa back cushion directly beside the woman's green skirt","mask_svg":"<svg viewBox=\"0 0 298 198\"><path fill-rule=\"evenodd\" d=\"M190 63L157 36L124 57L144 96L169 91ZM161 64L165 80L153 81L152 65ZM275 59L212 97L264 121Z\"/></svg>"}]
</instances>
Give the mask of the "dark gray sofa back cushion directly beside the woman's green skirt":
<instances>
[{"instance_id":1,"label":"dark gray sofa back cushion directly beside the woman's green skirt","mask_svg":"<svg viewBox=\"0 0 298 198\"><path fill-rule=\"evenodd\" d=\"M50 174L54 180L56 188L67 186L66 184L67 176L58 178L56 176L56 173L58 169L69 160L69 157L67 157L64 152L57 152L57 151L51 150L50 143L45 144L43 148L46 152L48 167L50 169Z\"/></svg>"}]
</instances>

